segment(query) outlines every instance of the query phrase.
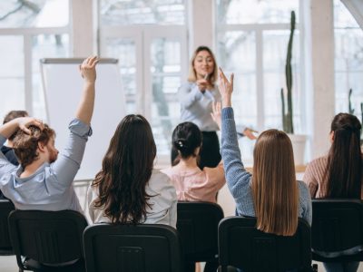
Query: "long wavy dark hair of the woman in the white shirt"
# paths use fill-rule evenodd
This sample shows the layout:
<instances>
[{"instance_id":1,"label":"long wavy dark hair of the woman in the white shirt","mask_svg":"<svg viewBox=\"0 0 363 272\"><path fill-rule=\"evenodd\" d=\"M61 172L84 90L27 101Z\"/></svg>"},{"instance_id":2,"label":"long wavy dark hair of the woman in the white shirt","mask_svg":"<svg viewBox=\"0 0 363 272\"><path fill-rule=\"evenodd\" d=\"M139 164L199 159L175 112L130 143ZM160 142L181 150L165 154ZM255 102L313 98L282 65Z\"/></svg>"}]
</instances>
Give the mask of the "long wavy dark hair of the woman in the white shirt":
<instances>
[{"instance_id":1,"label":"long wavy dark hair of the woman in the white shirt","mask_svg":"<svg viewBox=\"0 0 363 272\"><path fill-rule=\"evenodd\" d=\"M123 118L103 158L103 169L93 180L99 197L94 206L104 209L113 223L142 223L151 207L146 185L152 176L156 145L152 128L142 115Z\"/></svg>"}]
</instances>

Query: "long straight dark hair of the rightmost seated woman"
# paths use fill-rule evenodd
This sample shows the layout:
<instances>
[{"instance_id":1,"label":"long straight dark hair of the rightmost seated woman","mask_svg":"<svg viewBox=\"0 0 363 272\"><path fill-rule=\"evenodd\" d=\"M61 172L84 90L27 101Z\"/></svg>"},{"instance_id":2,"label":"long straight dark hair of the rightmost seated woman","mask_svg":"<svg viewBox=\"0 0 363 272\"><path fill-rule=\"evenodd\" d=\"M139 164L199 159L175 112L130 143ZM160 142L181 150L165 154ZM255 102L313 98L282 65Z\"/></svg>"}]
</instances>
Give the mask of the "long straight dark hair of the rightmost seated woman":
<instances>
[{"instance_id":1,"label":"long straight dark hair of the rightmost seated woman","mask_svg":"<svg viewBox=\"0 0 363 272\"><path fill-rule=\"evenodd\" d=\"M362 154L360 151L361 124L348 113L338 113L331 122L334 133L331 144L327 177L328 198L360 199Z\"/></svg>"}]
</instances>

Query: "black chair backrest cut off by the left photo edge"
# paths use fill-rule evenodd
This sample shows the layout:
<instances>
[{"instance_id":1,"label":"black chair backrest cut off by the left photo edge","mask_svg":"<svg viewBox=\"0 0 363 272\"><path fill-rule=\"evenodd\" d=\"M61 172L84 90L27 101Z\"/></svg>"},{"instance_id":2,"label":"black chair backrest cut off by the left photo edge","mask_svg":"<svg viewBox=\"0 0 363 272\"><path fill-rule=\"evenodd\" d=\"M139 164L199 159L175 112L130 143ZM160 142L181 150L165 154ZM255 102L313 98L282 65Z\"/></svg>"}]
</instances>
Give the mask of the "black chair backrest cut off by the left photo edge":
<instances>
[{"instance_id":1,"label":"black chair backrest cut off by the left photo edge","mask_svg":"<svg viewBox=\"0 0 363 272\"><path fill-rule=\"evenodd\" d=\"M14 254L7 223L7 218L12 210L15 210L13 202L8 199L0 199L0 255Z\"/></svg>"}]
</instances>

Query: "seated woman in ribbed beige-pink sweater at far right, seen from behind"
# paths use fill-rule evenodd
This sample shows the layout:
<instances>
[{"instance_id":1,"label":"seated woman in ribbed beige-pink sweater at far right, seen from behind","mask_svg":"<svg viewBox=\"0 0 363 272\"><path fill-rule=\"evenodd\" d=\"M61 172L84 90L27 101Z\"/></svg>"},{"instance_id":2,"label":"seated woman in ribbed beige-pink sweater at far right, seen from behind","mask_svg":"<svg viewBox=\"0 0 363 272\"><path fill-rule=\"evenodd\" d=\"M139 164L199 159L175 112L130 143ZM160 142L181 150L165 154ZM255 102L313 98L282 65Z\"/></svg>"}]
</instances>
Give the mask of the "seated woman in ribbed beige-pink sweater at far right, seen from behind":
<instances>
[{"instance_id":1,"label":"seated woman in ribbed beige-pink sweater at far right, seen from behind","mask_svg":"<svg viewBox=\"0 0 363 272\"><path fill-rule=\"evenodd\" d=\"M312 198L362 199L361 128L360 121L352 114L338 113L334 117L329 133L329 154L312 160L305 170L303 180L308 184ZM353 272L358 266L359 262L324 263L328 272Z\"/></svg>"}]
</instances>

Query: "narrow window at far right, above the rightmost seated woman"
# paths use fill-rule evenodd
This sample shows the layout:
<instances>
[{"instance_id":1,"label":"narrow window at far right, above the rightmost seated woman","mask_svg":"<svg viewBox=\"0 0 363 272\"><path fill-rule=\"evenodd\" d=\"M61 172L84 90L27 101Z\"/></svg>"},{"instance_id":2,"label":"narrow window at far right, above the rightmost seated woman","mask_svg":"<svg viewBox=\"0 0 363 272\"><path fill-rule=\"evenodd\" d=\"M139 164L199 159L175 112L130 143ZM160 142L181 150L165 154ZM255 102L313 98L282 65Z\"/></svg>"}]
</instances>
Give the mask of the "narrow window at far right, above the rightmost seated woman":
<instances>
[{"instance_id":1,"label":"narrow window at far right, above the rightmost seated woman","mask_svg":"<svg viewBox=\"0 0 363 272\"><path fill-rule=\"evenodd\" d=\"M348 112L348 93L352 90L351 108L361 120L363 102L363 31L348 9L334 1L336 112Z\"/></svg>"}]
</instances>

